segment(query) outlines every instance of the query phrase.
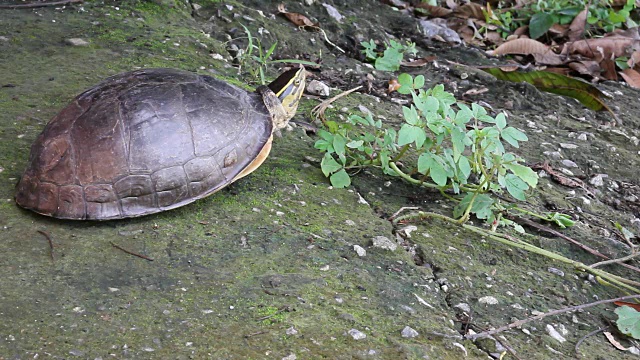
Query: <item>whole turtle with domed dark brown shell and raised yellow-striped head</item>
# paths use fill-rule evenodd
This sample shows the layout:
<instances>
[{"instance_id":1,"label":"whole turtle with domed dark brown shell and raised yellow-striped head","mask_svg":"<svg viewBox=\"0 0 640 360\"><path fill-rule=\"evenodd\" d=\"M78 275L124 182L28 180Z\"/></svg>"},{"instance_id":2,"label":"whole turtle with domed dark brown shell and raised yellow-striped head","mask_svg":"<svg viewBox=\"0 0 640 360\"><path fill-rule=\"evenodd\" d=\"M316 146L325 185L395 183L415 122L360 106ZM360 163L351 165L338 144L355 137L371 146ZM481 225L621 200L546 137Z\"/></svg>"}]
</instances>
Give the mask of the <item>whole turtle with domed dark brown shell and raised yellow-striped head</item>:
<instances>
[{"instance_id":1,"label":"whole turtle with domed dark brown shell and raised yellow-striped head","mask_svg":"<svg viewBox=\"0 0 640 360\"><path fill-rule=\"evenodd\" d=\"M209 196L264 162L305 80L303 66L255 92L168 68L107 78L45 126L16 203L60 219L111 220Z\"/></svg>"}]
</instances>

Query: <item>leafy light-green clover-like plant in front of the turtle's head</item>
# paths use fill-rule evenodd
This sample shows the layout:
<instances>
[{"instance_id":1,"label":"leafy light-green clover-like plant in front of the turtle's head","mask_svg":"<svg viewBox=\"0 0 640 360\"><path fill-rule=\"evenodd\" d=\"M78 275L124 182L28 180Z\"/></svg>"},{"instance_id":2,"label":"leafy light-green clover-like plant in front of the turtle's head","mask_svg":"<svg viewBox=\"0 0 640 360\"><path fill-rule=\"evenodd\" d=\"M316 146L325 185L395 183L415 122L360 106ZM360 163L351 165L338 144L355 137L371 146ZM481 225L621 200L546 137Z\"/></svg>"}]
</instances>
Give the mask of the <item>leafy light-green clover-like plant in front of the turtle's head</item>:
<instances>
[{"instance_id":1,"label":"leafy light-green clover-like plant in front of the turtle's head","mask_svg":"<svg viewBox=\"0 0 640 360\"><path fill-rule=\"evenodd\" d=\"M319 131L315 147L325 152L321 168L334 187L348 186L351 171L378 167L458 201L454 217L460 222L469 214L495 221L504 207L490 192L506 189L525 200L527 190L536 187L538 175L505 149L504 143L517 148L527 136L508 126L504 113L492 117L478 104L456 102L442 85L424 90L422 75L401 74L398 83L398 92L413 99L402 107L404 124L398 131L371 115L327 121L327 129Z\"/></svg>"}]
</instances>

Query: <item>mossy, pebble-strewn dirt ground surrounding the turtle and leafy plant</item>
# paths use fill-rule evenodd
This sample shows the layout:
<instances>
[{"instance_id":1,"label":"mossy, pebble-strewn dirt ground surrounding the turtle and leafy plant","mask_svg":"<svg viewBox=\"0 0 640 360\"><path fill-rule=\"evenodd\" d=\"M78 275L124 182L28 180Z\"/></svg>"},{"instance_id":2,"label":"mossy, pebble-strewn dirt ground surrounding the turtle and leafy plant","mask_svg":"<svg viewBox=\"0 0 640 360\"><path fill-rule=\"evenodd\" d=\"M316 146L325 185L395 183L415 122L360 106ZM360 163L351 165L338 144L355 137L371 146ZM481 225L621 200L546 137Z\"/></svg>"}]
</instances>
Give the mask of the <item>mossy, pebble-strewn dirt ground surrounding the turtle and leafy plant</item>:
<instances>
[{"instance_id":1,"label":"mossy, pebble-strewn dirt ground surrounding the turtle and leafy plant","mask_svg":"<svg viewBox=\"0 0 640 360\"><path fill-rule=\"evenodd\" d=\"M231 44L246 47L245 25L265 48L277 41L276 59L321 62L310 77L331 86L332 95L357 85L370 90L340 99L328 116L339 120L362 105L389 126L401 120L400 105L390 99L400 96L384 92L397 73L366 66L359 43L412 39L418 56L436 60L403 71L423 74L427 86L443 83L459 99L507 111L509 122L529 136L516 149L529 164L577 164L569 170L588 191L543 177L528 208L571 214L577 224L563 233L610 257L629 254L614 223L640 233L637 90L598 84L612 95L606 101L620 119L612 121L575 100L493 79L474 66L499 60L425 40L414 18L377 1L325 1L345 17L342 23L319 2L284 3L318 21L335 46L273 15L276 2L86 1L0 9L0 359L487 359L500 356L504 346L521 359L562 359L576 355L581 338L613 325L614 307L602 305L528 323L501 333L499 341L463 340L468 329L480 332L624 294L561 263L435 220L414 224L417 230L395 251L373 247L376 236L397 239L399 229L388 219L401 207L450 214L452 205L375 169L356 175L348 189L331 188L313 161L321 157L316 137L301 127L277 138L252 175L173 211L74 222L14 204L30 144L48 119L109 75L174 67L257 86L257 72L245 66L238 74L228 51ZM196 4L202 8L194 10ZM70 38L88 45L69 45ZM267 66L267 77L274 78L279 65ZM481 88L488 91L464 95ZM307 97L295 120L311 122L318 101ZM607 175L603 186L589 183L597 174ZM557 237L538 235L533 241L545 249L599 261ZM604 268L638 279L618 266ZM418 335L403 337L406 326ZM551 337L548 326L566 341ZM357 340L353 329L366 337ZM633 357L602 333L587 337L577 356Z\"/></svg>"}]
</instances>

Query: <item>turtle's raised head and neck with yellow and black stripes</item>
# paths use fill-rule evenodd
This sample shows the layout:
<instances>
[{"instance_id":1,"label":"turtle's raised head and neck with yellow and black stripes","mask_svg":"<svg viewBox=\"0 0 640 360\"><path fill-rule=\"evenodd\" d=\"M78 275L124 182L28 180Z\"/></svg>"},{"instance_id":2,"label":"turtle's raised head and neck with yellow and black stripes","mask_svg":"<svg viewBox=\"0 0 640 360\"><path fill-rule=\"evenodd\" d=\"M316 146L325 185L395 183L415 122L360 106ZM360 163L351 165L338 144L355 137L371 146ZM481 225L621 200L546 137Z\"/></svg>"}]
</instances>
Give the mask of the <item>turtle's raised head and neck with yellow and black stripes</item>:
<instances>
[{"instance_id":1,"label":"turtle's raised head and neck with yellow and black stripes","mask_svg":"<svg viewBox=\"0 0 640 360\"><path fill-rule=\"evenodd\" d=\"M304 66L300 65L299 67L284 72L268 85L269 89L278 97L281 104L281 108L278 106L277 114L273 114L272 111L276 128L281 129L285 127L293 115L296 114L298 102L300 101L306 84L306 77Z\"/></svg>"}]
</instances>

